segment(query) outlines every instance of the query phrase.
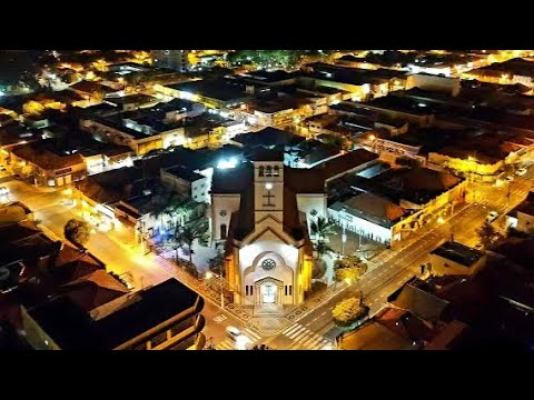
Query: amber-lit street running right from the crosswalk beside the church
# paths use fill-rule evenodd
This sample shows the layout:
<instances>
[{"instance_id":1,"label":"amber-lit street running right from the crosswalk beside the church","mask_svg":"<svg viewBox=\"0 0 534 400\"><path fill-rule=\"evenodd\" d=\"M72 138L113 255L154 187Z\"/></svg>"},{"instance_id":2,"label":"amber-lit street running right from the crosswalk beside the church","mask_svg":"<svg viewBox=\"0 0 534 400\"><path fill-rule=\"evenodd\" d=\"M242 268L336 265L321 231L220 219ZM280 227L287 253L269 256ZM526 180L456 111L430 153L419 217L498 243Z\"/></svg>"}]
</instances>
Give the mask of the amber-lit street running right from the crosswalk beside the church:
<instances>
[{"instance_id":1,"label":"amber-lit street running right from the crosswalk beside the church","mask_svg":"<svg viewBox=\"0 0 534 400\"><path fill-rule=\"evenodd\" d=\"M493 224L504 230L505 213L527 196L534 176L534 169L514 182L501 188L492 184L474 184L476 203L458 207L455 214L444 224L412 239L403 249L384 252L385 258L374 270L366 273L358 282L347 287L307 316L296 321L279 336L266 342L277 349L328 349L320 344L323 340L334 342L340 330L332 320L333 308L343 299L364 296L365 302L375 314L386 303L387 297L414 276L421 274L421 264L427 262L428 253L454 234L454 240L466 246L478 243L476 230L484 222L490 211L497 211L500 217ZM315 340L314 340L315 339Z\"/></svg>"}]
</instances>

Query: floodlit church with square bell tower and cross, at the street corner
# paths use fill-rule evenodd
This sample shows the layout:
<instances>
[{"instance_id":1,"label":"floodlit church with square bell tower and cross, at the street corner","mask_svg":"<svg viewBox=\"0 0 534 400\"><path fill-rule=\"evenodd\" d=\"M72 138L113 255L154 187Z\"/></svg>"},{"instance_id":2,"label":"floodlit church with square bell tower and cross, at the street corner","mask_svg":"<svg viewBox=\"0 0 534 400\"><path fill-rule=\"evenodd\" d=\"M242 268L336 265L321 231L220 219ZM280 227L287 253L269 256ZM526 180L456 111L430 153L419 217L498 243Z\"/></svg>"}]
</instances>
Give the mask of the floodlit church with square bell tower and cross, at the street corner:
<instances>
[{"instance_id":1,"label":"floodlit church with square bell tower and cross, at the street corner","mask_svg":"<svg viewBox=\"0 0 534 400\"><path fill-rule=\"evenodd\" d=\"M215 171L211 239L225 244L235 303L284 313L284 306L305 300L314 260L309 223L327 217L326 182L375 158L346 156L323 168L294 169L284 166L283 152L265 150L236 169Z\"/></svg>"}]
</instances>

